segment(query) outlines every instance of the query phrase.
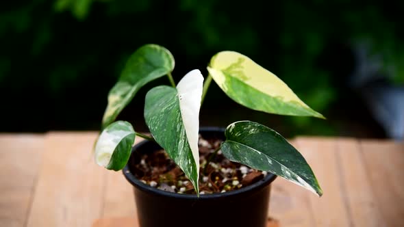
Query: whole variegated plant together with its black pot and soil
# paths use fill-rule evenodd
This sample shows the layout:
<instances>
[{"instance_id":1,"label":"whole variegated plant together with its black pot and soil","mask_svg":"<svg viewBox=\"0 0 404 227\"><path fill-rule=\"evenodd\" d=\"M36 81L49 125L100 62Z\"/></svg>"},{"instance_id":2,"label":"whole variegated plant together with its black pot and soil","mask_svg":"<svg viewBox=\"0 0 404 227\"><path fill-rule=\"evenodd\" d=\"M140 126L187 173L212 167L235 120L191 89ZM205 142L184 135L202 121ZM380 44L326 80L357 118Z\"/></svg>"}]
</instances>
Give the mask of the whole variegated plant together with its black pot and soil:
<instances>
[{"instance_id":1,"label":"whole variegated plant together with its black pot and soil","mask_svg":"<svg viewBox=\"0 0 404 227\"><path fill-rule=\"evenodd\" d=\"M140 226L265 226L275 175L323 194L301 154L267 126L243 120L221 131L199 130L199 110L212 79L250 109L324 118L281 79L233 51L212 57L205 82L192 70L175 85L173 68L173 55L162 46L135 51L108 94L95 145L96 162L123 169L134 185ZM165 75L172 86L152 88L145 97L144 120L152 137L135 132L129 122L114 122L142 85ZM136 135L147 140L132 148Z\"/></svg>"}]
</instances>

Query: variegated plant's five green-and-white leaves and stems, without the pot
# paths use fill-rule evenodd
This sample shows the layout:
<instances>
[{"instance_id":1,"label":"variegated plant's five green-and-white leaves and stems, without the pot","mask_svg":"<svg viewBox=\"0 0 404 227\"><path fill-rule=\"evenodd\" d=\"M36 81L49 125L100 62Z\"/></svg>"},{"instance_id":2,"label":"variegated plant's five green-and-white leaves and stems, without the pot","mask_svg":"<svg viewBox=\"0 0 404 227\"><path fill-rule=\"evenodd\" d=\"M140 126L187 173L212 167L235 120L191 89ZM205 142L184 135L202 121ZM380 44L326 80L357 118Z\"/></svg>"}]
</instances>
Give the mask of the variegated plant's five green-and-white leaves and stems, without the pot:
<instances>
[{"instance_id":1,"label":"variegated plant's five green-and-white leaves and stems, without the pot","mask_svg":"<svg viewBox=\"0 0 404 227\"><path fill-rule=\"evenodd\" d=\"M223 51L214 55L205 82L199 70L192 70L175 86L171 76L174 65L170 51L155 44L144 45L131 55L108 95L103 131L95 146L99 165L121 170L138 135L160 144L184 171L199 196L199 109L212 79L233 101L250 109L324 118L303 103L281 79L240 53ZM165 75L172 86L152 88L144 104L144 120L153 137L135 132L129 122L114 122L143 85ZM240 121L227 126L225 136L221 150L231 161L272 172L318 196L323 194L303 156L279 133L256 122Z\"/></svg>"}]
</instances>

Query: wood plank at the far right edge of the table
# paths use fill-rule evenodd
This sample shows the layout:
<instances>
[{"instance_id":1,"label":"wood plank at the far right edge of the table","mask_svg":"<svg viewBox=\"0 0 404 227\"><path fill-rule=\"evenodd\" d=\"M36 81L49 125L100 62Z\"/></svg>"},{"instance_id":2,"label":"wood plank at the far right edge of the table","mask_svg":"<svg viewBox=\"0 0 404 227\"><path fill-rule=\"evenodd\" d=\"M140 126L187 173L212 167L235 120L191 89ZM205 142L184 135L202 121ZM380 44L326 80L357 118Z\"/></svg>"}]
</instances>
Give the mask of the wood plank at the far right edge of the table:
<instances>
[{"instance_id":1,"label":"wood plank at the far right edge of the table","mask_svg":"<svg viewBox=\"0 0 404 227\"><path fill-rule=\"evenodd\" d=\"M386 226L404 226L404 144L365 140L360 146Z\"/></svg>"}]
</instances>

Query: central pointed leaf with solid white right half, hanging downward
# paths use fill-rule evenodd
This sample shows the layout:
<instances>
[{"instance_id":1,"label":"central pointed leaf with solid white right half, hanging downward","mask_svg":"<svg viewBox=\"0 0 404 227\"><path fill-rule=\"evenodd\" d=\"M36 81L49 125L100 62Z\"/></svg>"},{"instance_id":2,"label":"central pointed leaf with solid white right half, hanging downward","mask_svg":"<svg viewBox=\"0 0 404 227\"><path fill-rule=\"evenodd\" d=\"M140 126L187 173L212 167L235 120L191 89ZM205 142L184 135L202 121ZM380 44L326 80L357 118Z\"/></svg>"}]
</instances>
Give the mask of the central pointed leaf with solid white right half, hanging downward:
<instances>
[{"instance_id":1,"label":"central pointed leaf with solid white right half, hanging downward","mask_svg":"<svg viewBox=\"0 0 404 227\"><path fill-rule=\"evenodd\" d=\"M199 195L199 109L203 76L192 70L177 88L165 85L146 94L144 119L155 141L166 150Z\"/></svg>"}]
</instances>

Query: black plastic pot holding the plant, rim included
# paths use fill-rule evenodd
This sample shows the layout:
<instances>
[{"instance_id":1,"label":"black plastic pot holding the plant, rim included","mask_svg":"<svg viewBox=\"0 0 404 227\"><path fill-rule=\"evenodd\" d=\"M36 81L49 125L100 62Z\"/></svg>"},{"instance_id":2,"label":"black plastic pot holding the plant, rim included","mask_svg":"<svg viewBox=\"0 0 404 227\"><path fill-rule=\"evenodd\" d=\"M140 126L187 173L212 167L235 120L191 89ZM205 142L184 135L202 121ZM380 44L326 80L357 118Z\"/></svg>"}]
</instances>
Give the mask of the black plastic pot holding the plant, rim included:
<instances>
[{"instance_id":1,"label":"black plastic pot holding the plant, rim included","mask_svg":"<svg viewBox=\"0 0 404 227\"><path fill-rule=\"evenodd\" d=\"M201 129L204 138L223 138L223 129ZM140 142L132 149L123 169L127 181L134 185L138 218L141 227L264 227L268 218L270 183L276 178L267 174L261 181L235 191L196 195L172 193L150 187L131 174L136 153L161 149L154 142ZM136 150L136 152L134 152Z\"/></svg>"}]
</instances>

